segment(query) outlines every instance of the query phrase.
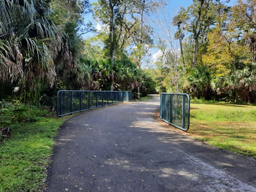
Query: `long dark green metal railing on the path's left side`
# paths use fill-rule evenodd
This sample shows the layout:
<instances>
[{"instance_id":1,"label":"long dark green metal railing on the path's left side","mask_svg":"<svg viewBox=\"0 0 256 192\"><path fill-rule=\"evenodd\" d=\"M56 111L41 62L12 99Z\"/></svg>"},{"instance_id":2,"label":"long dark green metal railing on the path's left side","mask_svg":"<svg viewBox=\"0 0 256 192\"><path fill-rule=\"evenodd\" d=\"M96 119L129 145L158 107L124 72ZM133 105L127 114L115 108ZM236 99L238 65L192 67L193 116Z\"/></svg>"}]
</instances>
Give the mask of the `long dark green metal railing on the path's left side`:
<instances>
[{"instance_id":1,"label":"long dark green metal railing on the path's left side","mask_svg":"<svg viewBox=\"0 0 256 192\"><path fill-rule=\"evenodd\" d=\"M57 115L73 114L76 112L114 105L131 101L131 91L66 91L57 93Z\"/></svg>"}]
</instances>

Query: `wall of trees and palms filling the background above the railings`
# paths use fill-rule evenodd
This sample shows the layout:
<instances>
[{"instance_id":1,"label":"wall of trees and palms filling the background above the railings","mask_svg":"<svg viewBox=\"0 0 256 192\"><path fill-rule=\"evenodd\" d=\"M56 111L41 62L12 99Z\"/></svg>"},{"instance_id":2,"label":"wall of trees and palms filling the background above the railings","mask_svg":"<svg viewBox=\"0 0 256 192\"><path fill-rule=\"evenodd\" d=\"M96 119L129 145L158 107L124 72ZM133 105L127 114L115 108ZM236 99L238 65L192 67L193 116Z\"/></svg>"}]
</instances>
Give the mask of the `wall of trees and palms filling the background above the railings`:
<instances>
[{"instance_id":1,"label":"wall of trees and palms filling the background above the railings","mask_svg":"<svg viewBox=\"0 0 256 192\"><path fill-rule=\"evenodd\" d=\"M1 0L0 97L38 105L60 89L157 90L255 102L255 6L196 0L173 13L168 0Z\"/></svg>"}]
</instances>

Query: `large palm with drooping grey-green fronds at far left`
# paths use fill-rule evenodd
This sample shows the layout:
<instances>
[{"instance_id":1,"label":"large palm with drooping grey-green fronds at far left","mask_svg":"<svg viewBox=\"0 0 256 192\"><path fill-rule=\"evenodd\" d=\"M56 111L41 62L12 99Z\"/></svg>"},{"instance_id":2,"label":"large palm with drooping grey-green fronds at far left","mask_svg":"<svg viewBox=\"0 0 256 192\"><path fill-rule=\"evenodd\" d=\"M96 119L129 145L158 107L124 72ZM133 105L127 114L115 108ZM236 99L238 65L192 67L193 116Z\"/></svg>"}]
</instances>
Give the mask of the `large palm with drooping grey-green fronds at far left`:
<instances>
[{"instance_id":1,"label":"large palm with drooping grey-green fronds at far left","mask_svg":"<svg viewBox=\"0 0 256 192\"><path fill-rule=\"evenodd\" d=\"M35 101L42 85L55 81L53 50L60 39L60 18L43 0L1 0L0 7L1 78L21 78L24 99L33 95Z\"/></svg>"}]
</instances>

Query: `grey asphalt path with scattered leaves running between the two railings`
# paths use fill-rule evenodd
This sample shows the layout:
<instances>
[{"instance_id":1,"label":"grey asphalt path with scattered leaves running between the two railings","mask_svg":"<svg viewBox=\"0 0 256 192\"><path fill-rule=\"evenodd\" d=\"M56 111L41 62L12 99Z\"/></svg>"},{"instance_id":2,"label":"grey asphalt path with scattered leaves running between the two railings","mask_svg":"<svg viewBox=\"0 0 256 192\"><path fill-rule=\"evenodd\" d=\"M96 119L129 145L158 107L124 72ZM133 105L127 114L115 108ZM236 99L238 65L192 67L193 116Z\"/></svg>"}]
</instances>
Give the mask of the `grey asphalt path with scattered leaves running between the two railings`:
<instances>
[{"instance_id":1,"label":"grey asphalt path with scattered leaves running between the two railings","mask_svg":"<svg viewBox=\"0 0 256 192\"><path fill-rule=\"evenodd\" d=\"M256 161L172 131L159 97L71 117L55 138L45 191L255 191Z\"/></svg>"}]
</instances>

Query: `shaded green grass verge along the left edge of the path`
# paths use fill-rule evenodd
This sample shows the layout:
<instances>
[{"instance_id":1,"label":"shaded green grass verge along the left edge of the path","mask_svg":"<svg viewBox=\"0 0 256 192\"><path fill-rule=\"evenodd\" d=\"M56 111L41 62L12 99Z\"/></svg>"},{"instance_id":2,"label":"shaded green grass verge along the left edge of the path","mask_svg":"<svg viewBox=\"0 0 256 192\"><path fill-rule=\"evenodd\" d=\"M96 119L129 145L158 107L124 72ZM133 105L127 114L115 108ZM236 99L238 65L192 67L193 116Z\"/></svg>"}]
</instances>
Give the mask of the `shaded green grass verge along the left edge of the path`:
<instances>
[{"instance_id":1,"label":"shaded green grass verge along the left edge of the path","mask_svg":"<svg viewBox=\"0 0 256 192\"><path fill-rule=\"evenodd\" d=\"M53 138L68 117L10 126L11 136L0 143L0 191L42 190Z\"/></svg>"}]
</instances>

